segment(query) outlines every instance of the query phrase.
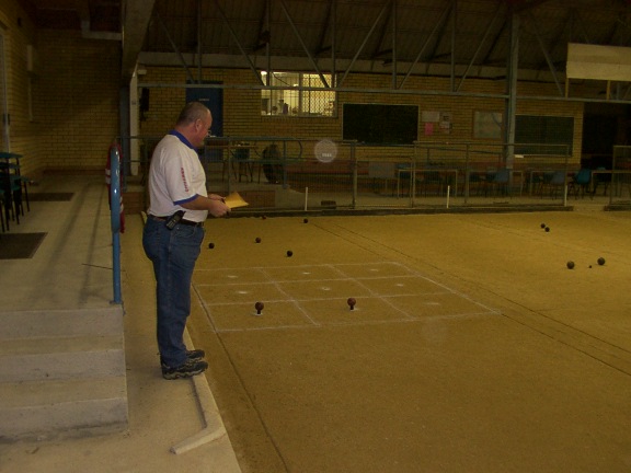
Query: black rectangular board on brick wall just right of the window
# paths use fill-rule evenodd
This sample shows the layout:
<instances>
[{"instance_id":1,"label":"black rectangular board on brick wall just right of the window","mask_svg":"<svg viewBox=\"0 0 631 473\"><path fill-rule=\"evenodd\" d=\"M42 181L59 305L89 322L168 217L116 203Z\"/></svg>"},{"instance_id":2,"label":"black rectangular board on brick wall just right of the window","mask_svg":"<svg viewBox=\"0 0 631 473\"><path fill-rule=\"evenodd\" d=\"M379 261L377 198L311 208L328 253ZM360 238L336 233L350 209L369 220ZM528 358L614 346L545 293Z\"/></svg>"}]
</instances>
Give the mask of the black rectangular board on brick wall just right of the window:
<instances>
[{"instance_id":1,"label":"black rectangular board on brick wall just right of the window","mask_svg":"<svg viewBox=\"0 0 631 473\"><path fill-rule=\"evenodd\" d=\"M412 145L418 139L418 106L344 104L342 138L365 145Z\"/></svg>"}]
</instances>

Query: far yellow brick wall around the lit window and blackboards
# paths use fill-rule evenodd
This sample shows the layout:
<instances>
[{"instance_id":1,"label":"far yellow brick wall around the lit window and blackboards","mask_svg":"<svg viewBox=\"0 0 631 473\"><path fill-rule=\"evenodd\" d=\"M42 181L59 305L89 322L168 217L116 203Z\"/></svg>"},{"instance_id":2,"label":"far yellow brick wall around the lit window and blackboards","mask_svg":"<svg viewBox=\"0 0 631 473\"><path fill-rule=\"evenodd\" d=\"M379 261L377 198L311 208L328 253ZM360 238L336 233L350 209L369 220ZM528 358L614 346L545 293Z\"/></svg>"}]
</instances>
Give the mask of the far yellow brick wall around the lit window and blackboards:
<instances>
[{"instance_id":1,"label":"far yellow brick wall around the lit window and blackboards","mask_svg":"<svg viewBox=\"0 0 631 473\"><path fill-rule=\"evenodd\" d=\"M196 70L193 71L196 73ZM222 81L226 84L255 84L250 70L211 70L203 71L205 81ZM182 84L186 80L183 68L149 67L141 78L146 84ZM459 83L460 79L457 79ZM343 88L358 90L378 90L391 86L391 77L386 74L348 74ZM425 90L448 92L450 81L447 78L411 77L404 90ZM467 79L461 92L477 94L502 94L505 92L503 81ZM141 135L162 136L173 126L180 108L185 101L185 89L151 88L150 112L147 120L140 125ZM518 94L523 96L555 95L553 84L519 83ZM448 96L438 94L409 93L372 93L341 92L337 96L339 116L302 117L262 116L260 111L261 92L259 90L230 89L223 90L223 135L230 137L291 137L303 140L330 138L342 139L342 106L344 103L390 103L418 105L421 111L438 111L449 113L452 118L451 130L445 134L435 124L434 134L425 136L424 124L420 122L418 140L429 143L436 141L474 142L479 146L501 145L501 140L481 140L473 137L473 116L475 111L504 112L504 100L484 96ZM517 113L523 115L557 115L574 117L574 155L572 161L581 159L581 142L583 130L583 104L580 102L519 100ZM306 147L309 152L309 147ZM400 159L402 150L389 147L362 148L362 159Z\"/></svg>"}]
</instances>

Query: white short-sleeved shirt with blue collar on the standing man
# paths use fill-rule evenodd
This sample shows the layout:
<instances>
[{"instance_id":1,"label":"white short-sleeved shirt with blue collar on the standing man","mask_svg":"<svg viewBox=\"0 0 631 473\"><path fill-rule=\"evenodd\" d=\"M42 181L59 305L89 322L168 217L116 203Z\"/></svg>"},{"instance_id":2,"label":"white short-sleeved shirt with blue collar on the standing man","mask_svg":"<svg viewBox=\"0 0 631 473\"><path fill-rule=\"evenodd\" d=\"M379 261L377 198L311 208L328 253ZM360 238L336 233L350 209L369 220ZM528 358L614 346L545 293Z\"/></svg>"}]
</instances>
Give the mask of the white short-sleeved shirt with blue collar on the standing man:
<instances>
[{"instance_id":1,"label":"white short-sleeved shirt with blue collar on the standing man","mask_svg":"<svg viewBox=\"0 0 631 473\"><path fill-rule=\"evenodd\" d=\"M206 173L195 148L180 132L172 130L156 146L149 168L148 214L168 217L184 210L184 219L205 221L207 210L186 210L180 204L207 197Z\"/></svg>"}]
</instances>

